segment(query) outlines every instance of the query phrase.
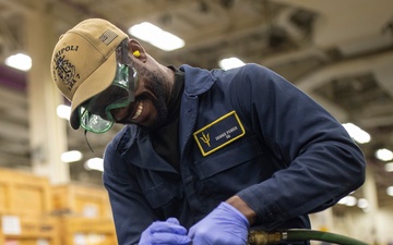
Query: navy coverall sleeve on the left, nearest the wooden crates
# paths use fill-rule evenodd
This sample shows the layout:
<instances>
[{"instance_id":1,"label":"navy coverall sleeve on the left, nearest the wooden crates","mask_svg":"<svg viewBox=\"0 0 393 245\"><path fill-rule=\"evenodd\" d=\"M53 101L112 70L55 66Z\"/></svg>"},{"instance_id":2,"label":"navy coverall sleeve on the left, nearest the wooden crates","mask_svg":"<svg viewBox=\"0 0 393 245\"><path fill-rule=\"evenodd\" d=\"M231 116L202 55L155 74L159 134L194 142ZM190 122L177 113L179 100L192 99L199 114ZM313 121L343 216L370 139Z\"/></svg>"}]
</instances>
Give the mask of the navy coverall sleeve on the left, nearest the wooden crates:
<instances>
[{"instance_id":1,"label":"navy coverall sleeve on the left, nearest the wooden crates","mask_svg":"<svg viewBox=\"0 0 393 245\"><path fill-rule=\"evenodd\" d=\"M129 164L110 143L104 155L103 182L108 191L118 244L138 244L141 233L155 220Z\"/></svg>"}]
</instances>

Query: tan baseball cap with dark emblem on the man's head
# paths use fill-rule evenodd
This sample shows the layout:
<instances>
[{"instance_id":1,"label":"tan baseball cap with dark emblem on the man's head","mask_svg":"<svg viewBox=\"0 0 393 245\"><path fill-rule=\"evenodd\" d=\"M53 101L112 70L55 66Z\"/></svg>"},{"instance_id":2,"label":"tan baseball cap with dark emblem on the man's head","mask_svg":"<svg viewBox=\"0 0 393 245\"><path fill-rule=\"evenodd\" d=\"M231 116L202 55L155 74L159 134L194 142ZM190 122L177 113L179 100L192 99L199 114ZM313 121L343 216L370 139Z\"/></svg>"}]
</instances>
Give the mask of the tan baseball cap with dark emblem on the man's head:
<instances>
[{"instance_id":1,"label":"tan baseball cap with dark emblem on the man's head","mask_svg":"<svg viewBox=\"0 0 393 245\"><path fill-rule=\"evenodd\" d=\"M56 86L71 101L72 128L80 127L76 109L114 81L115 50L126 38L126 33L102 19L82 21L60 36L52 53L50 73Z\"/></svg>"}]
</instances>

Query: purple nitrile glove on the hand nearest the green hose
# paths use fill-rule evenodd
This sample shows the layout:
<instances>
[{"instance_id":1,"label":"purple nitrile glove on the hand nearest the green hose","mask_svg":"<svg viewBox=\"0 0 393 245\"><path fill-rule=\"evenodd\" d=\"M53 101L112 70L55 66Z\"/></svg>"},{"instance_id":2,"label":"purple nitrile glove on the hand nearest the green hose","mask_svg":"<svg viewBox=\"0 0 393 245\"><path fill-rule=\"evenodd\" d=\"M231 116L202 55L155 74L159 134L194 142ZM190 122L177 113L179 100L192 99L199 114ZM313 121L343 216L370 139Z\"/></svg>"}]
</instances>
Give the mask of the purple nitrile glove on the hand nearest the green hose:
<instances>
[{"instance_id":1,"label":"purple nitrile glove on the hand nearest the green hose","mask_svg":"<svg viewBox=\"0 0 393 245\"><path fill-rule=\"evenodd\" d=\"M221 203L189 232L192 245L245 245L249 222L235 207Z\"/></svg>"}]
</instances>

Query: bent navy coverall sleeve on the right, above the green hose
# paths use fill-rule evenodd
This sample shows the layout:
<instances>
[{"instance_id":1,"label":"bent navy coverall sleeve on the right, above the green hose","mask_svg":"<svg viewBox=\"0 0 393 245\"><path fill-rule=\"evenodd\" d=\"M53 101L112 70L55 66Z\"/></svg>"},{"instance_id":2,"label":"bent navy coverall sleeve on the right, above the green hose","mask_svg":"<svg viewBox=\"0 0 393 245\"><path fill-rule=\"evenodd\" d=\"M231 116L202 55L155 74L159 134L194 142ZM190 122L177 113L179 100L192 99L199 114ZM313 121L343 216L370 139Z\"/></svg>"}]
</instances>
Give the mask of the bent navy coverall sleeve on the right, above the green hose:
<instances>
[{"instance_id":1,"label":"bent navy coverall sleeve on the right, above the green hose","mask_svg":"<svg viewBox=\"0 0 393 245\"><path fill-rule=\"evenodd\" d=\"M342 124L274 72L251 64L231 90L251 131L284 168L238 193L262 228L321 211L365 181L365 158ZM245 96L246 95L246 96Z\"/></svg>"}]
</instances>

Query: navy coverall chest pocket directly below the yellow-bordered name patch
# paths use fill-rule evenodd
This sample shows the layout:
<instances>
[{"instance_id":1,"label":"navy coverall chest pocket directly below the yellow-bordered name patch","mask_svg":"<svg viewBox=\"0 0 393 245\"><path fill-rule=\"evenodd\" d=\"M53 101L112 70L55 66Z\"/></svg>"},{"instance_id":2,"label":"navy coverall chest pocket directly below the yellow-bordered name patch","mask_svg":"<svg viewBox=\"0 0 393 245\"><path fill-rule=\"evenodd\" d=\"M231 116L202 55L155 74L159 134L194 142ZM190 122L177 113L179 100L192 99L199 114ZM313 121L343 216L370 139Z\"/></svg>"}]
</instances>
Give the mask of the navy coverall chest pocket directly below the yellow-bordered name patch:
<instances>
[{"instance_id":1,"label":"navy coverall chest pocket directly below the yellow-bordered name patch","mask_svg":"<svg viewBox=\"0 0 393 245\"><path fill-rule=\"evenodd\" d=\"M195 162L200 188L210 195L233 195L263 179L263 150L255 137L245 138ZM218 197L222 198L222 197Z\"/></svg>"}]
</instances>

